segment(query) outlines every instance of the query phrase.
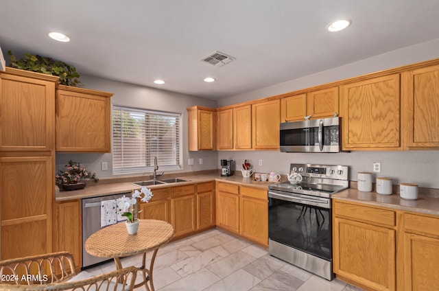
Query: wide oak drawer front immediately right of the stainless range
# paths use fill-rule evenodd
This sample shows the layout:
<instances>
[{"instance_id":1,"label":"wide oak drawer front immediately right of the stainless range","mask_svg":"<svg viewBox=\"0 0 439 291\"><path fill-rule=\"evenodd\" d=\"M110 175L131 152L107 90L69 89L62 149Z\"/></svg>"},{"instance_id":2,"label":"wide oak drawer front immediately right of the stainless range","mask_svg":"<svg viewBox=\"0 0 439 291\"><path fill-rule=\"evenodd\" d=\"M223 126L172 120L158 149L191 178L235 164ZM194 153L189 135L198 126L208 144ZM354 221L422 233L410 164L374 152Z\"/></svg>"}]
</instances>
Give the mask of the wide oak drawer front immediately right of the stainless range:
<instances>
[{"instance_id":1,"label":"wide oak drawer front immediately right of the stainless range","mask_svg":"<svg viewBox=\"0 0 439 291\"><path fill-rule=\"evenodd\" d=\"M335 202L334 213L344 218L395 226L395 212L391 210Z\"/></svg>"}]
</instances>

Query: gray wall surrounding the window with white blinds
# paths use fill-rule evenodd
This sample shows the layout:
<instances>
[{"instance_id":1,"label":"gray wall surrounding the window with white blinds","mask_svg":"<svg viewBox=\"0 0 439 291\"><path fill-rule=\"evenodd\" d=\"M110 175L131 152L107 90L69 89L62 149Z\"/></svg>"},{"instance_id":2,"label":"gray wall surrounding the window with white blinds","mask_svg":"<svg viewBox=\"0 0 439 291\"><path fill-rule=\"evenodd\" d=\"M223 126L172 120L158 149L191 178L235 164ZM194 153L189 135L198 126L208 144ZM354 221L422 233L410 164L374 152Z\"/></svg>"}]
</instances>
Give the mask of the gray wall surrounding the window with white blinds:
<instances>
[{"instance_id":1,"label":"gray wall surrounding the window with white blinds","mask_svg":"<svg viewBox=\"0 0 439 291\"><path fill-rule=\"evenodd\" d=\"M217 107L216 100L208 100L191 95L158 90L146 86L138 86L124 82L117 82L88 75L81 75L80 81L84 88L115 93L111 102L114 105L134 108L147 108L174 113L182 113L182 165L181 171L211 170L218 167L217 152L188 152L187 150L187 107L200 105ZM187 160L193 159L194 165L187 165ZM203 164L199 164L199 159ZM99 178L114 178L131 175L112 174L112 154L56 154L56 168L62 169L69 159L81 163L89 171L96 172ZM101 163L108 163L108 170L101 170ZM151 173L142 173L151 174Z\"/></svg>"}]
</instances>

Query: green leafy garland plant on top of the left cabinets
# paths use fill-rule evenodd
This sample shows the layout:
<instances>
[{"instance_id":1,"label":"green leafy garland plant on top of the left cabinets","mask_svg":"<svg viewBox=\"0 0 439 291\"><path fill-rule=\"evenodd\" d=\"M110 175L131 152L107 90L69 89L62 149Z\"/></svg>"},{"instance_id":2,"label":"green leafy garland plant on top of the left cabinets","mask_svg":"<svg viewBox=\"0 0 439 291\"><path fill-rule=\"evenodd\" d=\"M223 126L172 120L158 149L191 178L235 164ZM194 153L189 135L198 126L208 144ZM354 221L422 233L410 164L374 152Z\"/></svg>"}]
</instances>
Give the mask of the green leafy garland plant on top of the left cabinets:
<instances>
[{"instance_id":1,"label":"green leafy garland plant on top of the left cabinets","mask_svg":"<svg viewBox=\"0 0 439 291\"><path fill-rule=\"evenodd\" d=\"M78 80L80 74L76 71L75 67L67 65L60 60L32 54L25 54L22 59L17 60L11 51L8 51L8 55L11 57L9 67L57 75L60 77L60 84L67 86L76 86L80 83L80 80Z\"/></svg>"}]
</instances>

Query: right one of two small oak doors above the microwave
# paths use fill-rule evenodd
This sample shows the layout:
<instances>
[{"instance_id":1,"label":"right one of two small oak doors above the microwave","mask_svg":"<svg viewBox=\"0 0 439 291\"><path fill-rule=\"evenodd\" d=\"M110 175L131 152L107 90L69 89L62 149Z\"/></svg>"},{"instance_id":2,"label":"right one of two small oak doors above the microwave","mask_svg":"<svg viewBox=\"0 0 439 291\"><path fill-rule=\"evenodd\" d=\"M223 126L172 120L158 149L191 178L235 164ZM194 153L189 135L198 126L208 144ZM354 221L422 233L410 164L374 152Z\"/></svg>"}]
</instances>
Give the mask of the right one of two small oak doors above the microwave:
<instances>
[{"instance_id":1,"label":"right one of two small oak doors above the microwave","mask_svg":"<svg viewBox=\"0 0 439 291\"><path fill-rule=\"evenodd\" d=\"M307 93L307 115L311 118L334 117L338 108L338 86Z\"/></svg>"}]
</instances>

